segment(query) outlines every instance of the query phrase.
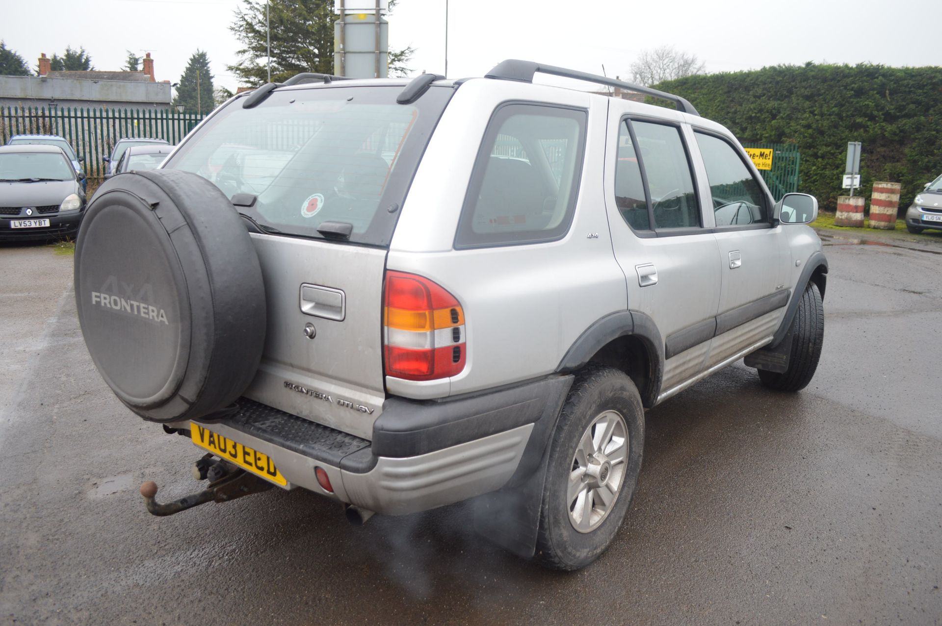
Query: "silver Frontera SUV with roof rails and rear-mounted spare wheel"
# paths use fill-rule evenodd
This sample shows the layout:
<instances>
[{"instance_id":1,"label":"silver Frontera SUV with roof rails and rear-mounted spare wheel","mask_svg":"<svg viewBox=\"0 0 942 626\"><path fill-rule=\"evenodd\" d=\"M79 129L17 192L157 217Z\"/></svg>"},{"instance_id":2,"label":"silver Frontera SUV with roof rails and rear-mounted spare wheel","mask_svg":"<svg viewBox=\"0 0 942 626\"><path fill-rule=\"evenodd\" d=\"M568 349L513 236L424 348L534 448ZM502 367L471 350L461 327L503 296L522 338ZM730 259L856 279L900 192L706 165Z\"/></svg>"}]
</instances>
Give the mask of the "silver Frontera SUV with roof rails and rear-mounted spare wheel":
<instances>
[{"instance_id":1,"label":"silver Frontera SUV with roof rails and rear-mounted spare wheel","mask_svg":"<svg viewBox=\"0 0 942 626\"><path fill-rule=\"evenodd\" d=\"M152 513L272 486L360 523L474 499L486 537L572 570L625 518L644 409L743 357L808 384L817 212L672 94L518 60L300 74L106 182L75 294L112 390L204 453L205 489L142 486Z\"/></svg>"}]
</instances>

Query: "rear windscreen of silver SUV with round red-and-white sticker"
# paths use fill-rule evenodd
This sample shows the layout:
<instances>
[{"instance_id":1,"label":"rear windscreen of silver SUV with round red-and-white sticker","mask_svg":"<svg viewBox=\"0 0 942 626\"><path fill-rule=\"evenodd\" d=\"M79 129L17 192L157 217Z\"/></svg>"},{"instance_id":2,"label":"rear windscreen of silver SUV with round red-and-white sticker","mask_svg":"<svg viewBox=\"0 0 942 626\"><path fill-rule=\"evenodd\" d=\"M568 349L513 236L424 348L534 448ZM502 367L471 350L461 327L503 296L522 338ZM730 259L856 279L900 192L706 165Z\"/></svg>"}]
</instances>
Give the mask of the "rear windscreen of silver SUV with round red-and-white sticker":
<instances>
[{"instance_id":1,"label":"rear windscreen of silver SUV with round red-and-white sticker","mask_svg":"<svg viewBox=\"0 0 942 626\"><path fill-rule=\"evenodd\" d=\"M325 221L352 226L349 241L387 246L429 136L451 96L430 88L397 104L402 87L275 91L235 100L188 137L164 166L195 172L238 210L283 233L322 237Z\"/></svg>"}]
</instances>

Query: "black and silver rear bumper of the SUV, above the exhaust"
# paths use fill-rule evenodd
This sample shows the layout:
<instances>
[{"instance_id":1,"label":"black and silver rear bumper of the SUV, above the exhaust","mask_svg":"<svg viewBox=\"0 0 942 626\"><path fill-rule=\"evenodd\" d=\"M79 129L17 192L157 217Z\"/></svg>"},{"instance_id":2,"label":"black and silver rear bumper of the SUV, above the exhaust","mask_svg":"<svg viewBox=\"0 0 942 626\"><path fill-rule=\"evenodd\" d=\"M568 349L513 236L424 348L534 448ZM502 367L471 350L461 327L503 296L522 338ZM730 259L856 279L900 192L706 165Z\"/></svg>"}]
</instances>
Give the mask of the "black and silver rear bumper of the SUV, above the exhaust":
<instances>
[{"instance_id":1,"label":"black and silver rear bumper of the SUV, above the exhaust","mask_svg":"<svg viewBox=\"0 0 942 626\"><path fill-rule=\"evenodd\" d=\"M240 401L235 416L199 424L267 454L288 480L286 489L303 487L401 515L498 490L530 474L571 384L572 377L550 377L447 402L390 398L372 442L252 400ZM317 483L317 467L327 472L333 493Z\"/></svg>"}]
</instances>

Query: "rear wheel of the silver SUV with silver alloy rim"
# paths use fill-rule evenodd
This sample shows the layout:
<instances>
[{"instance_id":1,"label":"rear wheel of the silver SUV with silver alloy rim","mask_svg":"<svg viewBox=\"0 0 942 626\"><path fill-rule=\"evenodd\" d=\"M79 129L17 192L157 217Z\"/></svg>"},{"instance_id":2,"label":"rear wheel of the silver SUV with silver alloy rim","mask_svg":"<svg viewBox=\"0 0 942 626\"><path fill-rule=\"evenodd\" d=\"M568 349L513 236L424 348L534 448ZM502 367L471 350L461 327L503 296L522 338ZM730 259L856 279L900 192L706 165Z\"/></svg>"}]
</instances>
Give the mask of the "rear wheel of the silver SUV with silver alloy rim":
<instances>
[{"instance_id":1,"label":"rear wheel of the silver SUV with silver alloy rim","mask_svg":"<svg viewBox=\"0 0 942 626\"><path fill-rule=\"evenodd\" d=\"M591 365L566 399L549 450L534 560L578 570L604 553L638 483L644 409L625 373Z\"/></svg>"}]
</instances>

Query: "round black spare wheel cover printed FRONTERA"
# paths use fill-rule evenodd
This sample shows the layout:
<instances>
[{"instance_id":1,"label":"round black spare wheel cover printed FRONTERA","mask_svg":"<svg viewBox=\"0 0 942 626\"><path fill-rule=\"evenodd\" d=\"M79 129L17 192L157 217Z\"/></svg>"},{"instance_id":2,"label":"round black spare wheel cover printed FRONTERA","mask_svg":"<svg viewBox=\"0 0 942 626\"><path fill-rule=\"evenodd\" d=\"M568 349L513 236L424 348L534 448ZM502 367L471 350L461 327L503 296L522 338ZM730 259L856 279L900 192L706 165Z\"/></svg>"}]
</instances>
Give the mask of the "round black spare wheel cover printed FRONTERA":
<instances>
[{"instance_id":1,"label":"round black spare wheel cover printed FRONTERA","mask_svg":"<svg viewBox=\"0 0 942 626\"><path fill-rule=\"evenodd\" d=\"M202 177L156 169L102 185L74 280L92 361L141 417L203 417L252 381L265 342L261 267L242 218Z\"/></svg>"}]
</instances>

